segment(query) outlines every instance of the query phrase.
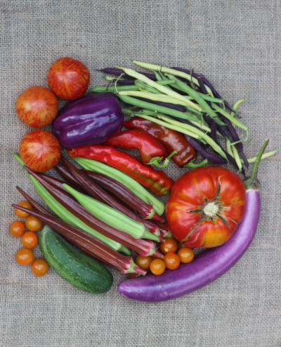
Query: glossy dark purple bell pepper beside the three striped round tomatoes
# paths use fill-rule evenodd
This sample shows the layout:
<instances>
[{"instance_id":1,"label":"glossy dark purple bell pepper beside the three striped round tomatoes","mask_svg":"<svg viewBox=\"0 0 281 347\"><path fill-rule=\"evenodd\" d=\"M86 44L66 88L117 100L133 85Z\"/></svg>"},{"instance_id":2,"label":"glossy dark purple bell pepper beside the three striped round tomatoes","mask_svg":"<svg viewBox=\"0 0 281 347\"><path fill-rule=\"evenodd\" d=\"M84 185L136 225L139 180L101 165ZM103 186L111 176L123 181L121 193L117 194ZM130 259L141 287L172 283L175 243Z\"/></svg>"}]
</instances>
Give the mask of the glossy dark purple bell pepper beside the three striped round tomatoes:
<instances>
[{"instance_id":1,"label":"glossy dark purple bell pepper beside the three striped round tomatoes","mask_svg":"<svg viewBox=\"0 0 281 347\"><path fill-rule=\"evenodd\" d=\"M89 94L67 103L53 122L53 133L65 148L101 144L117 134L124 115L110 93Z\"/></svg>"}]
</instances>

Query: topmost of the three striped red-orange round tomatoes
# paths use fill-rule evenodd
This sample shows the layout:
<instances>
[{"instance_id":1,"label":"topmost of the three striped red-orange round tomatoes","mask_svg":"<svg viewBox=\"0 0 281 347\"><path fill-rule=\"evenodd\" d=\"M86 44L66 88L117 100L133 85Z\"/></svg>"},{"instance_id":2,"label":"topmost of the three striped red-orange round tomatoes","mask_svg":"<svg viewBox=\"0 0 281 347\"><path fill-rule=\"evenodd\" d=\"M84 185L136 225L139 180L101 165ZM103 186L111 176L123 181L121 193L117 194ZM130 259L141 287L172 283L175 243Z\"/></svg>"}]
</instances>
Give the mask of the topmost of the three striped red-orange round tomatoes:
<instances>
[{"instance_id":1,"label":"topmost of the three striped red-orange round tomatoes","mask_svg":"<svg viewBox=\"0 0 281 347\"><path fill-rule=\"evenodd\" d=\"M65 100L83 96L89 82L90 72L86 65L70 57L58 59L48 70L48 85L55 95Z\"/></svg>"}]
</instances>

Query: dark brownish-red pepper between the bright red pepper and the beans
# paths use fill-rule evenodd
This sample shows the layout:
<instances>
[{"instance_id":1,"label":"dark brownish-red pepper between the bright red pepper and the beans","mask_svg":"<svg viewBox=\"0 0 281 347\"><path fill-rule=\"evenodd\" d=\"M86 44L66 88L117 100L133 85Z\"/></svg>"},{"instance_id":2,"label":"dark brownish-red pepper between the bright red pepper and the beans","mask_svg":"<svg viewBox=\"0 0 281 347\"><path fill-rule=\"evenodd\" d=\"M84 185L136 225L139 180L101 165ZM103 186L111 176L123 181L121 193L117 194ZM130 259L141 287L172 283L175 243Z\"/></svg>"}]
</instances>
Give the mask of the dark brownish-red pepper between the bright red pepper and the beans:
<instances>
[{"instance_id":1,"label":"dark brownish-red pepper between the bright red pepper and the beans","mask_svg":"<svg viewBox=\"0 0 281 347\"><path fill-rule=\"evenodd\" d=\"M124 127L147 132L161 142L169 154L176 151L176 154L172 156L172 160L178 166L185 165L197 156L195 149L185 139L183 134L167 129L162 125L157 125L142 118L131 118L124 122Z\"/></svg>"}]
</instances>

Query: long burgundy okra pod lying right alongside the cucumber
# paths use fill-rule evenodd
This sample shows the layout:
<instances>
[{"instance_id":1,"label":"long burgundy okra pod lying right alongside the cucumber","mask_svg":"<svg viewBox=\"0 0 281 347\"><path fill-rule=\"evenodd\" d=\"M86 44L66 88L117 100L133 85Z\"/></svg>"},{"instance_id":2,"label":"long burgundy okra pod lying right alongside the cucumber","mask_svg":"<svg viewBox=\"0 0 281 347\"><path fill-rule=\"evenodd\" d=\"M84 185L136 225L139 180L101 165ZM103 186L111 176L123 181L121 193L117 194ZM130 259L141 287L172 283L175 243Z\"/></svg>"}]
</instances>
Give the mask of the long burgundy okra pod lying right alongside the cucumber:
<instances>
[{"instance_id":1,"label":"long burgundy okra pod lying right alongside the cucumber","mask_svg":"<svg viewBox=\"0 0 281 347\"><path fill-rule=\"evenodd\" d=\"M114 251L112 248L106 246L103 244L103 242L96 239L96 237L84 232L83 230L73 227L72 225L63 222L59 218L50 215L49 213L41 213L30 210L29 208L24 208L15 203L13 203L12 206L27 212L30 215L38 217L42 222L46 223L50 227L53 227L58 234L64 236L65 239L69 240L72 244L78 248L81 248L83 251L86 250L86 253L93 256L93 258L97 258L107 265L116 267L124 274L128 272L135 272L140 275L145 275L145 271L133 263L133 258Z\"/></svg>"}]
</instances>

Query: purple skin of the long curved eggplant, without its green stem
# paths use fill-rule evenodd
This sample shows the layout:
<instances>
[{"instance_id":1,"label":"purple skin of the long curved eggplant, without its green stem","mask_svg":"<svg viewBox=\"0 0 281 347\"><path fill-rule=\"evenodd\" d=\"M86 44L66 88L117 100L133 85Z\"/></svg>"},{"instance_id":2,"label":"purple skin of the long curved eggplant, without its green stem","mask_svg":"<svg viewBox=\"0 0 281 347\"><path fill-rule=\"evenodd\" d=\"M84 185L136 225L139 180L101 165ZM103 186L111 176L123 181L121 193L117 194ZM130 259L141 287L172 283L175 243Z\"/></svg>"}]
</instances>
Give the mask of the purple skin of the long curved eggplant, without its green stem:
<instances>
[{"instance_id":1,"label":"purple skin of the long curved eggplant, without its green stem","mask_svg":"<svg viewBox=\"0 0 281 347\"><path fill-rule=\"evenodd\" d=\"M182 264L177 270L167 270L164 275L120 282L119 293L133 300L156 302L178 298L207 286L233 267L247 251L258 226L260 205L259 190L248 189L244 217L226 244L209 248L197 255L192 263Z\"/></svg>"}]
</instances>

